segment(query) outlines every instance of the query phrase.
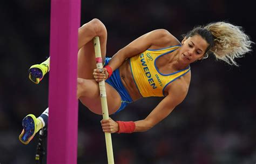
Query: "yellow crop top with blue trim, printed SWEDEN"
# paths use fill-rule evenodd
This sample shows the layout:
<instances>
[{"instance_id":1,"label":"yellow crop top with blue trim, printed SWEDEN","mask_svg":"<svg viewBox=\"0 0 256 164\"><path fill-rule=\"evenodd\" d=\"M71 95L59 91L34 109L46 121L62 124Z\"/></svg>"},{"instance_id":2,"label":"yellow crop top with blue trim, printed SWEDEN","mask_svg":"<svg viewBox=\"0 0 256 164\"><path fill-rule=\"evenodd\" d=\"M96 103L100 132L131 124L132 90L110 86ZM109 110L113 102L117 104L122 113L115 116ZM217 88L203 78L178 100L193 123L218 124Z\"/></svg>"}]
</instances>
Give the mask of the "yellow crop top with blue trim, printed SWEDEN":
<instances>
[{"instance_id":1,"label":"yellow crop top with blue trim, printed SWEDEN","mask_svg":"<svg viewBox=\"0 0 256 164\"><path fill-rule=\"evenodd\" d=\"M167 53L173 52L178 47L180 46L171 46L158 50L147 49L130 58L133 80L142 97L165 96L165 87L190 71L190 66L170 74L163 74L158 70L156 60Z\"/></svg>"}]
</instances>

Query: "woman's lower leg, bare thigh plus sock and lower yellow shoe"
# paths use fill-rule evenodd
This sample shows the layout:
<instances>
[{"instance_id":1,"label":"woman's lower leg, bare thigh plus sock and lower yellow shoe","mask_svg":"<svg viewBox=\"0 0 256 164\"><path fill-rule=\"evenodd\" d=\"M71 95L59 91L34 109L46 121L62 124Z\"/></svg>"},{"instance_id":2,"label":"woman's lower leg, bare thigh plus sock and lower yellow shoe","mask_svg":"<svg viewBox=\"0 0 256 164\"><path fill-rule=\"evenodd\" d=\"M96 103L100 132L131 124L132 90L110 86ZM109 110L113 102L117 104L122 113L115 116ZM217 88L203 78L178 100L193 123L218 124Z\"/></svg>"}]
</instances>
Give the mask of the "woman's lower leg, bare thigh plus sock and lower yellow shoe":
<instances>
[{"instance_id":1,"label":"woman's lower leg, bare thigh plus sock and lower yellow shoe","mask_svg":"<svg viewBox=\"0 0 256 164\"><path fill-rule=\"evenodd\" d=\"M109 84L105 83L107 101L110 102L107 107L109 114L113 114L121 105L121 97L119 93ZM110 94L111 93L111 94ZM98 83L92 79L77 79L77 98L96 114L102 114L102 106L100 104ZM48 123L49 108L47 108L40 117L29 114L22 120L23 130L19 135L19 140L23 144L29 144L35 134Z\"/></svg>"}]
</instances>

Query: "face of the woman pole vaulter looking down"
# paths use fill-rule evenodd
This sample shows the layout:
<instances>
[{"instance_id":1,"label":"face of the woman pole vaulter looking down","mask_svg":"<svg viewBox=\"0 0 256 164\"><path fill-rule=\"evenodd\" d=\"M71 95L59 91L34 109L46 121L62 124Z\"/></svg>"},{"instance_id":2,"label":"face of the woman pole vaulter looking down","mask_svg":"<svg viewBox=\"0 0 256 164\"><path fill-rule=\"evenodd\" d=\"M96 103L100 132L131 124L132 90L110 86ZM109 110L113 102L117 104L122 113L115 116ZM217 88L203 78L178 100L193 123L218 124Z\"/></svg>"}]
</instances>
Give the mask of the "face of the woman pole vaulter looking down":
<instances>
[{"instance_id":1,"label":"face of the woman pole vaulter looking down","mask_svg":"<svg viewBox=\"0 0 256 164\"><path fill-rule=\"evenodd\" d=\"M205 51L209 44L200 35L194 35L184 38L181 41L180 58L185 63L193 63L194 61L203 59Z\"/></svg>"}]
</instances>

